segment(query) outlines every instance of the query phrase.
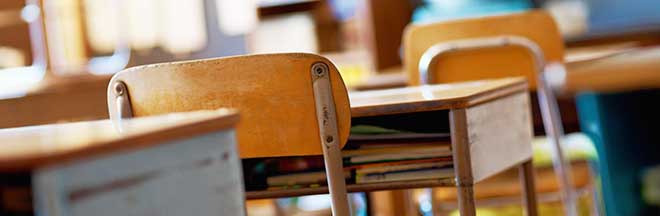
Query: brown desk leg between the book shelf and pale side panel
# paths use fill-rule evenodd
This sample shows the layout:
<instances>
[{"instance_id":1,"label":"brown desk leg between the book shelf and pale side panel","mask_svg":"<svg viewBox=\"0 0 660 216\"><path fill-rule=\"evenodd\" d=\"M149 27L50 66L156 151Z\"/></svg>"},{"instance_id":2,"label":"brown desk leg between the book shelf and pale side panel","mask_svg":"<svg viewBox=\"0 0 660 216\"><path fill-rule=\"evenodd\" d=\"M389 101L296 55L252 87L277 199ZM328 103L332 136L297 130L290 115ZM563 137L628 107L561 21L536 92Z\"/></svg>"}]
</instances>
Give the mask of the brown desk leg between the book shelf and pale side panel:
<instances>
[{"instance_id":1,"label":"brown desk leg between the book shelf and pale side panel","mask_svg":"<svg viewBox=\"0 0 660 216\"><path fill-rule=\"evenodd\" d=\"M449 119L451 124L451 146L454 158L454 172L456 175L458 209L462 216L473 216L476 215L476 211L466 110L451 110Z\"/></svg>"}]
</instances>

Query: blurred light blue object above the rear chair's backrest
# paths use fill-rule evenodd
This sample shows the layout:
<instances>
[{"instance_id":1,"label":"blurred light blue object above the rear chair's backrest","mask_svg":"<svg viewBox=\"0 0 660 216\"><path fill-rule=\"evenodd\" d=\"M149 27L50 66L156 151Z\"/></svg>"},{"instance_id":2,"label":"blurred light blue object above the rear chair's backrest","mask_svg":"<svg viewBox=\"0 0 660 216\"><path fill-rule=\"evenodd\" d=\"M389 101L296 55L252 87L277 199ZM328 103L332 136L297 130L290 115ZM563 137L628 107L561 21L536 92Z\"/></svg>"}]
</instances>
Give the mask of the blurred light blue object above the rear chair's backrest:
<instances>
[{"instance_id":1,"label":"blurred light blue object above the rear chair's backrest","mask_svg":"<svg viewBox=\"0 0 660 216\"><path fill-rule=\"evenodd\" d=\"M511 13L533 8L529 0L425 0L415 9L415 23Z\"/></svg>"}]
</instances>

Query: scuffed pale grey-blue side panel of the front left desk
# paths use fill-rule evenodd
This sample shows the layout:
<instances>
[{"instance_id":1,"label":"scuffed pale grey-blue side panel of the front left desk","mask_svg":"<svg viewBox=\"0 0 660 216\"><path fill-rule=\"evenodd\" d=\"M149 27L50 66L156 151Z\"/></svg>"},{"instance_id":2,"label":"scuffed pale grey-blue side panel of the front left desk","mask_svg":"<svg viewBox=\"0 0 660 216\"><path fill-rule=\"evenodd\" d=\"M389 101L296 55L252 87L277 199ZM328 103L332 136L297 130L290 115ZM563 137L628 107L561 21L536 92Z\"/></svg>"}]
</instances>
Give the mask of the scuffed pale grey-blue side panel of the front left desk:
<instances>
[{"instance_id":1,"label":"scuffed pale grey-blue side panel of the front left desk","mask_svg":"<svg viewBox=\"0 0 660 216\"><path fill-rule=\"evenodd\" d=\"M36 171L39 215L244 215L233 130Z\"/></svg>"}]
</instances>

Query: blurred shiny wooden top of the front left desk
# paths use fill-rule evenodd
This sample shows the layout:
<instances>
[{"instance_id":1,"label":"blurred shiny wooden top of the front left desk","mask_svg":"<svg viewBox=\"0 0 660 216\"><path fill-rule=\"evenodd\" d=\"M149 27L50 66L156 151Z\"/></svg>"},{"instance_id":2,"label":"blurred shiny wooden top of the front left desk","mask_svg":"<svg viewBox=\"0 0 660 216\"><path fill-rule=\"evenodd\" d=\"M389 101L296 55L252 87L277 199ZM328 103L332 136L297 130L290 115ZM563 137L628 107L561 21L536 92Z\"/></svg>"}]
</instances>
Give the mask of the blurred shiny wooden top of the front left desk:
<instances>
[{"instance_id":1,"label":"blurred shiny wooden top of the front left desk","mask_svg":"<svg viewBox=\"0 0 660 216\"><path fill-rule=\"evenodd\" d=\"M0 172L29 170L232 128L234 110L219 109L123 120L0 129Z\"/></svg>"}]
</instances>

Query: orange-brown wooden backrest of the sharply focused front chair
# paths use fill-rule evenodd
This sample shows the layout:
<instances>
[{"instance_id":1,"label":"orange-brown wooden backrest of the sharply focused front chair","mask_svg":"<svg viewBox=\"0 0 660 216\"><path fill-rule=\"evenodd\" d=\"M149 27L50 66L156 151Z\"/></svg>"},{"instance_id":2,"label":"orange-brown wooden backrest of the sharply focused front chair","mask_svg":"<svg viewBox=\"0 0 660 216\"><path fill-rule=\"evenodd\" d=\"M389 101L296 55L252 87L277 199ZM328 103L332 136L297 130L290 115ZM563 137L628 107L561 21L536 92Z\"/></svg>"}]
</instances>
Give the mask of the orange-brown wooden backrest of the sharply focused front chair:
<instances>
[{"instance_id":1,"label":"orange-brown wooden backrest of the sharply focused front chair","mask_svg":"<svg viewBox=\"0 0 660 216\"><path fill-rule=\"evenodd\" d=\"M348 93L337 68L328 59L313 54L248 55L129 68L110 81L110 117L121 118L117 112L121 105L115 100L115 88L121 83L128 93L130 116L238 109L241 120L237 137L242 158L320 155L319 97L315 96L319 91L313 83L319 63L325 65L329 75L329 86L320 88L330 87L327 92L332 96L327 107L330 110L325 106L322 110L329 120L331 109L336 111L337 141L342 147L350 127Z\"/></svg>"}]
</instances>

